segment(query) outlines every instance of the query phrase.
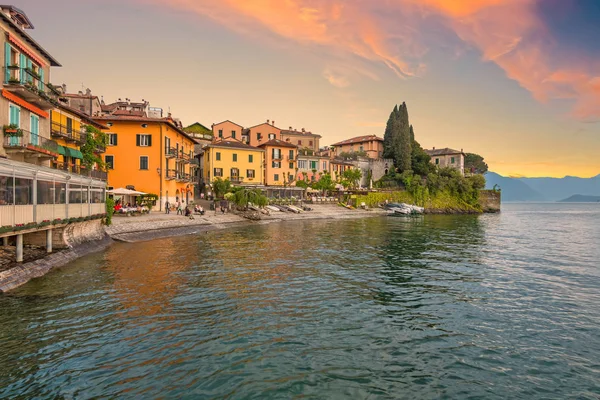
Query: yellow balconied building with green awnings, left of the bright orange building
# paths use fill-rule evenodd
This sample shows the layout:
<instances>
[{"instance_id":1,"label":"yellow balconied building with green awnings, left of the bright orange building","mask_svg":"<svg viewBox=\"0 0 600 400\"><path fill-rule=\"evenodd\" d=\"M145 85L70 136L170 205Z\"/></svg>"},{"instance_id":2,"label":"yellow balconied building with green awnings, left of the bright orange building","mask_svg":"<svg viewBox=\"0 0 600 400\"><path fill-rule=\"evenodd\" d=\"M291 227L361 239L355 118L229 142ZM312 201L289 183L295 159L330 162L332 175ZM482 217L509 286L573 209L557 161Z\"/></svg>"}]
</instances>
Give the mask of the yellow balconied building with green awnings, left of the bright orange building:
<instances>
[{"instance_id":1,"label":"yellow balconied building with green awnings, left of the bright orange building","mask_svg":"<svg viewBox=\"0 0 600 400\"><path fill-rule=\"evenodd\" d=\"M106 126L94 121L88 115L77 111L67 105L59 104L51 114L50 135L58 144L58 158L52 160L52 168L73 172L80 175L90 175L106 180L106 172L98 165L88 170L83 165L81 146L86 141L86 125L97 129L108 129ZM104 146L96 148L96 155L106 150Z\"/></svg>"}]
</instances>

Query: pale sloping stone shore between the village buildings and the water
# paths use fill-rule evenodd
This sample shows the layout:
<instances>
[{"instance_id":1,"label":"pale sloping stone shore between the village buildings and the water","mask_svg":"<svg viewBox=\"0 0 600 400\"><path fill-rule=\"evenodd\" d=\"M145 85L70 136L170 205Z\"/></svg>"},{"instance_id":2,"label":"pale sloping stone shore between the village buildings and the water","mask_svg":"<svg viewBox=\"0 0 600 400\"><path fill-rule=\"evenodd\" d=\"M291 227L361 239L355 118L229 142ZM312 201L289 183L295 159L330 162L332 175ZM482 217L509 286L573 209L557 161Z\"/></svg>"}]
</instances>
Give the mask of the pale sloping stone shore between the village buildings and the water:
<instances>
[{"instance_id":1,"label":"pale sloping stone shore between the village buildings and the water","mask_svg":"<svg viewBox=\"0 0 600 400\"><path fill-rule=\"evenodd\" d=\"M204 215L194 215L194 219L177 215L165 214L164 211L153 211L139 216L114 216L112 225L106 228L113 239L124 241L141 241L159 237L192 234L199 231L224 229L235 225L271 223L287 220L305 219L345 219L377 216L383 213L380 209L349 210L338 205L311 205L312 211L294 214L290 212L271 212L271 215L261 215L260 221L250 221L233 213L222 214L220 211L207 211Z\"/></svg>"}]
</instances>

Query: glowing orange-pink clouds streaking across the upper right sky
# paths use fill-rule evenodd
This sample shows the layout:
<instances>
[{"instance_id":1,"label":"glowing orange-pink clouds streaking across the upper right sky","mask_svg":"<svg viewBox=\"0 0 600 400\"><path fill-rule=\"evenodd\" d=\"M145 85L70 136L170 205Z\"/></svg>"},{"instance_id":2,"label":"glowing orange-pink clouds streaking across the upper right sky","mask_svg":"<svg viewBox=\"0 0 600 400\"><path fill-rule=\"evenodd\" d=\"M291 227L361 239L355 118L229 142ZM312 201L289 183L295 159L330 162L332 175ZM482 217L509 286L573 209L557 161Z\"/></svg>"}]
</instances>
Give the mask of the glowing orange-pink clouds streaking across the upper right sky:
<instances>
[{"instance_id":1,"label":"glowing orange-pink clouds streaking across the upper right sky","mask_svg":"<svg viewBox=\"0 0 600 400\"><path fill-rule=\"evenodd\" d=\"M267 34L379 62L402 78L423 74L425 22L430 22L426 17L435 15L536 100L570 99L573 116L600 117L600 73L577 57L565 57L536 14L536 4L537 0L170 0L168 7L211 18L245 35ZM323 77L338 88L348 87L358 71L347 74L352 68L327 64ZM362 75L376 77L374 72Z\"/></svg>"}]
</instances>

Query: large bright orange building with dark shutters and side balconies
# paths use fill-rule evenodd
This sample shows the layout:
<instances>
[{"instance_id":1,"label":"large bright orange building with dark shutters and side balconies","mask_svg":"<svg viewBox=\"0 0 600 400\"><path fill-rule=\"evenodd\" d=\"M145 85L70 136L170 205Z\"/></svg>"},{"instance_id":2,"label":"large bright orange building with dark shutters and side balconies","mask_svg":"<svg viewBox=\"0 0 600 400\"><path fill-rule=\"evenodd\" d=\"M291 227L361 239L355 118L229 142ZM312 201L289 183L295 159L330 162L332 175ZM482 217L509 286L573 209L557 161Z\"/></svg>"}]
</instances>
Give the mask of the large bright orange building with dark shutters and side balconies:
<instances>
[{"instance_id":1,"label":"large bright orange building with dark shutters and side balconies","mask_svg":"<svg viewBox=\"0 0 600 400\"><path fill-rule=\"evenodd\" d=\"M157 208L194 199L194 139L172 118L135 115L94 117L108 127L104 162L108 185L133 186L135 190L158 196Z\"/></svg>"}]
</instances>

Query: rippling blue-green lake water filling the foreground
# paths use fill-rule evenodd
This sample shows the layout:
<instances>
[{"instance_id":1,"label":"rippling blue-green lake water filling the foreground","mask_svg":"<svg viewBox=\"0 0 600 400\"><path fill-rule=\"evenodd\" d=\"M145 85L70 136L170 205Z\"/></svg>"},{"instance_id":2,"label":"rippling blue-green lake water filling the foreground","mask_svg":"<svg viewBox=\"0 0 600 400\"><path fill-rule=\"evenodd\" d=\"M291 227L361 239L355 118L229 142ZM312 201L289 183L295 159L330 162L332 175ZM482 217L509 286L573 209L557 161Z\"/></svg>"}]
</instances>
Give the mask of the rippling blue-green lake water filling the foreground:
<instances>
[{"instance_id":1,"label":"rippling blue-green lake water filling the foreground","mask_svg":"<svg viewBox=\"0 0 600 400\"><path fill-rule=\"evenodd\" d=\"M117 243L0 346L0 398L597 399L600 205Z\"/></svg>"}]
</instances>

